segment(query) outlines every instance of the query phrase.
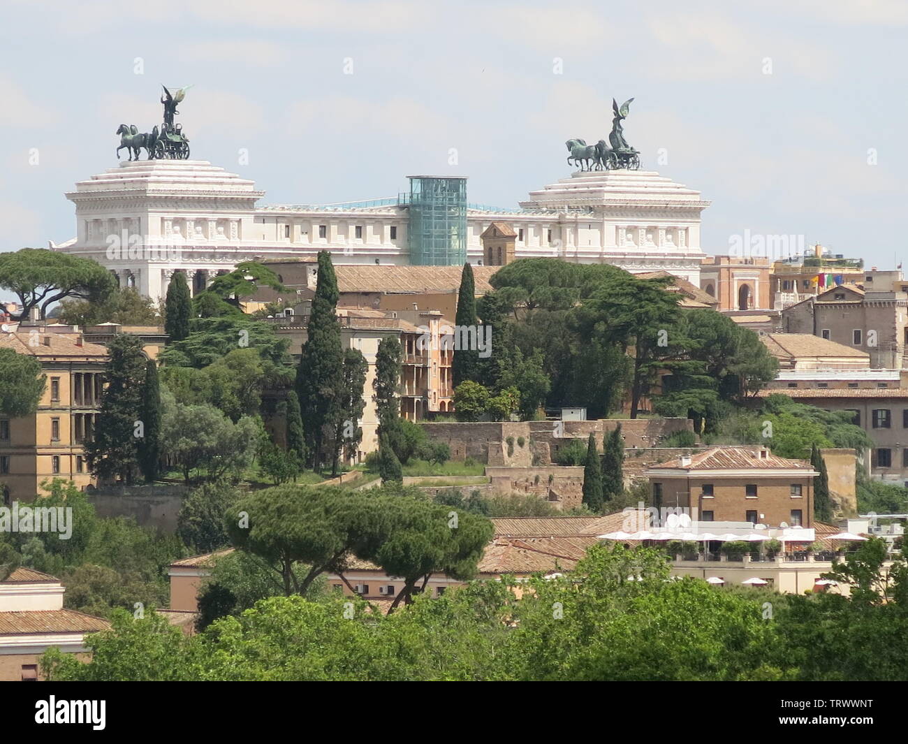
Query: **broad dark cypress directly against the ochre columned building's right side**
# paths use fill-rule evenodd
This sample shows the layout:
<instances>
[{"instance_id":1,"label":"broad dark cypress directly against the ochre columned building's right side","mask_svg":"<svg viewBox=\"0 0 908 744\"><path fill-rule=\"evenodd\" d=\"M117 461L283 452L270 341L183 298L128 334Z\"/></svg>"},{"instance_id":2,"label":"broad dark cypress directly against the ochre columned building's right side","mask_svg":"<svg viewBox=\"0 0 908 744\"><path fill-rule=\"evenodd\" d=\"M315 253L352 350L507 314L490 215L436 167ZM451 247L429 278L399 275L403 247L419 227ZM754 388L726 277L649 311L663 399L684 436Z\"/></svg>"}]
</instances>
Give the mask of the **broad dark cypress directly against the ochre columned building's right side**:
<instances>
[{"instance_id":1,"label":"broad dark cypress directly against the ochre columned building's right side","mask_svg":"<svg viewBox=\"0 0 908 744\"><path fill-rule=\"evenodd\" d=\"M142 421L145 355L136 336L118 335L107 345L110 360L94 426L94 440L85 442L89 467L105 479L133 482L138 466L136 422Z\"/></svg>"}]
</instances>

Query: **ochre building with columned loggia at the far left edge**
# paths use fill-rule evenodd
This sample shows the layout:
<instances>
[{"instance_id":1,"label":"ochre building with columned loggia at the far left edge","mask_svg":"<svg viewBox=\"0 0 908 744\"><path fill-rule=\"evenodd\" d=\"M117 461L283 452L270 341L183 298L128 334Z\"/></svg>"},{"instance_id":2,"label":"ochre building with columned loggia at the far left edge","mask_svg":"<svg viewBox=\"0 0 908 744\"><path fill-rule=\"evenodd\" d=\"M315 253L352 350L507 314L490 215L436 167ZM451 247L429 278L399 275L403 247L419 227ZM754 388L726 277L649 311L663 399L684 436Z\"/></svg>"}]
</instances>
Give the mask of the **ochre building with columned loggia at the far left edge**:
<instances>
[{"instance_id":1,"label":"ochre building with columned loggia at the far left edge","mask_svg":"<svg viewBox=\"0 0 908 744\"><path fill-rule=\"evenodd\" d=\"M64 478L84 489L94 483L84 442L94 434L107 350L86 343L71 326L0 333L0 348L34 356L46 377L33 416L0 417L0 484L8 501L31 501L42 481Z\"/></svg>"}]
</instances>

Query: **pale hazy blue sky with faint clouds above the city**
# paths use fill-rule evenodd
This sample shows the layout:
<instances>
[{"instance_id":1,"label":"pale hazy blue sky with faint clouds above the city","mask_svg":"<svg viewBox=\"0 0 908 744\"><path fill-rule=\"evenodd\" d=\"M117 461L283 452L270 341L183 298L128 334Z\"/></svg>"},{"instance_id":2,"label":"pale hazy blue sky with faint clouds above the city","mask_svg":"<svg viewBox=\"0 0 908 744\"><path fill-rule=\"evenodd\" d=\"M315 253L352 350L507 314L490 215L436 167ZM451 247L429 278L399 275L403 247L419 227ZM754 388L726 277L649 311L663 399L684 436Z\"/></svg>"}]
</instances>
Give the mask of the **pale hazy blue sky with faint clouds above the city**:
<instances>
[{"instance_id":1,"label":"pale hazy blue sky with faint clouds above the city","mask_svg":"<svg viewBox=\"0 0 908 744\"><path fill-rule=\"evenodd\" d=\"M745 230L880 268L905 253L904 0L0 8L2 251L73 237L64 191L117 164L118 124L160 123L163 83L194 85L177 119L192 156L254 179L262 203L461 174L471 202L516 206L570 174L568 138L607 138L613 96L634 96L643 167L713 202L707 253Z\"/></svg>"}]
</instances>

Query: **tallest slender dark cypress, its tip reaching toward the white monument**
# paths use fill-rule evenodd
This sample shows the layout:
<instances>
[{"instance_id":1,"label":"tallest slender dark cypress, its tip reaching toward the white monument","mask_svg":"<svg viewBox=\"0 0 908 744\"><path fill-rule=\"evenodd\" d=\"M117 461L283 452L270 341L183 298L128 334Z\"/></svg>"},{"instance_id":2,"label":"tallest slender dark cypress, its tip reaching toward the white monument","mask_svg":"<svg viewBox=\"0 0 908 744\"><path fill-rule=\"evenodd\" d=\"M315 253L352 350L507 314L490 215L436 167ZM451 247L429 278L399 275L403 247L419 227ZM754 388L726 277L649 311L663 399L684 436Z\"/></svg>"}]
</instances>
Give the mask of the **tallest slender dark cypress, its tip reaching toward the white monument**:
<instances>
[{"instance_id":1,"label":"tallest slender dark cypress, its tip reaching toward the white monument","mask_svg":"<svg viewBox=\"0 0 908 744\"><path fill-rule=\"evenodd\" d=\"M343 394L341 323L338 322L338 283L331 253L319 252L319 278L312 312L296 371L296 392L306 422L306 445L312 467L321 471L325 430L337 420Z\"/></svg>"}]
</instances>

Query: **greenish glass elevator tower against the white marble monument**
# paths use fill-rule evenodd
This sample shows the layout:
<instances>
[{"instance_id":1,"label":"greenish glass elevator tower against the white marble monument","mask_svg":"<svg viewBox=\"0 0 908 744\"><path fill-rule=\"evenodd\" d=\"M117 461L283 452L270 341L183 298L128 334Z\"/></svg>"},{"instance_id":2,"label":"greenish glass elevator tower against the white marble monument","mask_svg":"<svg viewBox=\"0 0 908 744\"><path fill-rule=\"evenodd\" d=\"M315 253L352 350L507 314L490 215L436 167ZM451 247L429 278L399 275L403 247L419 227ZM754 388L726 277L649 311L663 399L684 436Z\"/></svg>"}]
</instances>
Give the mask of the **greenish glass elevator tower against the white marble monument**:
<instances>
[{"instance_id":1,"label":"greenish glass elevator tower against the white marble monument","mask_svg":"<svg viewBox=\"0 0 908 744\"><path fill-rule=\"evenodd\" d=\"M410 263L459 266L467 261L467 177L411 175Z\"/></svg>"}]
</instances>

